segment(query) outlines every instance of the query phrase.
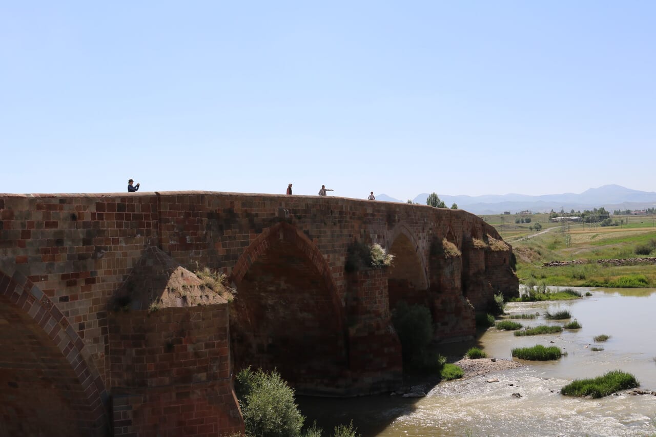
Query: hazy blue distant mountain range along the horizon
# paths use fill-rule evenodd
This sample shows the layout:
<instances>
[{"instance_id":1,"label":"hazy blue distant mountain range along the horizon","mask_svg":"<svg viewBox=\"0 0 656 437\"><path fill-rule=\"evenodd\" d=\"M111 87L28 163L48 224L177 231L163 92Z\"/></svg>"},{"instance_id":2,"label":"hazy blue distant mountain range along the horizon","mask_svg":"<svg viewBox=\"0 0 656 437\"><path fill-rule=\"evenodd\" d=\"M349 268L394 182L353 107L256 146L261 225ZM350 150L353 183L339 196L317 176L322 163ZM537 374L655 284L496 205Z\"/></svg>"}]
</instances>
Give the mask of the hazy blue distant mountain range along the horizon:
<instances>
[{"instance_id":1,"label":"hazy blue distant mountain range along the horizon","mask_svg":"<svg viewBox=\"0 0 656 437\"><path fill-rule=\"evenodd\" d=\"M447 196L438 194L447 207L457 203L460 209L474 214L501 214L510 211L511 214L520 211L533 211L535 213L548 213L552 209L565 211L574 209L583 211L604 207L608 211L613 209L644 209L656 206L656 192L631 190L619 185L604 185L599 188L590 188L581 194L544 194L543 196L527 196L525 194L485 194L483 196ZM427 193L419 194L413 202L426 205ZM386 194L377 194L376 199L392 202L403 202L391 198Z\"/></svg>"}]
</instances>

